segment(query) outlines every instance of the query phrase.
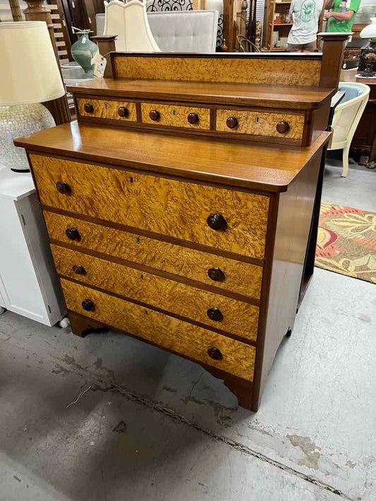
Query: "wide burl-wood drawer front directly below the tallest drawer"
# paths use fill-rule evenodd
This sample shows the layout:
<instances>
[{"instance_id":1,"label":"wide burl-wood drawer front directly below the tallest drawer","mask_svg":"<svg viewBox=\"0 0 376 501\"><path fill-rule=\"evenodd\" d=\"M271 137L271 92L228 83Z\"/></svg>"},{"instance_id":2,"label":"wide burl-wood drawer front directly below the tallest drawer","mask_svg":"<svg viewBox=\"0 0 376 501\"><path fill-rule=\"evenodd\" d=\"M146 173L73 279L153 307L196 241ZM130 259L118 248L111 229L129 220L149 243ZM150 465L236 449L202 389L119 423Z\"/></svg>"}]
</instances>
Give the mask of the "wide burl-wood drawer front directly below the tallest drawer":
<instances>
[{"instance_id":1,"label":"wide burl-wood drawer front directly below the tallest drawer","mask_svg":"<svg viewBox=\"0 0 376 501\"><path fill-rule=\"evenodd\" d=\"M44 211L49 237L260 299L262 266Z\"/></svg>"}]
</instances>

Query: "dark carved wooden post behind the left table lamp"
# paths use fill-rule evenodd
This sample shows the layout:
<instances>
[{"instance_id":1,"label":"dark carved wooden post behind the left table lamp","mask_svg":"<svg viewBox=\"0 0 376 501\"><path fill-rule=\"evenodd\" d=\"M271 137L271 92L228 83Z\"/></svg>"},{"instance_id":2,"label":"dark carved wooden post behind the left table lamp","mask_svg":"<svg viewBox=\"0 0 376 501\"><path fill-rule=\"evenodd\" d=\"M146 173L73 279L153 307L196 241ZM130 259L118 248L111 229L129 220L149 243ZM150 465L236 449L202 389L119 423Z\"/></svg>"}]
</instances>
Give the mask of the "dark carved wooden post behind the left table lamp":
<instances>
[{"instance_id":1,"label":"dark carved wooden post behind the left table lamp","mask_svg":"<svg viewBox=\"0 0 376 501\"><path fill-rule=\"evenodd\" d=\"M49 8L47 8L47 6L44 5L44 0L25 0L25 2L26 4L28 4L28 8L25 8L25 11L23 11L23 13L25 14L27 21L44 21L45 23L47 23L49 38L51 39L52 47L54 47L54 53L61 75L59 56L57 54L55 44L54 27L51 20L51 11ZM61 80L63 80L62 75ZM59 97L58 99L53 99L52 101L47 101L43 104L54 117L56 125L71 122L71 112L69 111L66 94L64 94L62 97Z\"/></svg>"}]
</instances>

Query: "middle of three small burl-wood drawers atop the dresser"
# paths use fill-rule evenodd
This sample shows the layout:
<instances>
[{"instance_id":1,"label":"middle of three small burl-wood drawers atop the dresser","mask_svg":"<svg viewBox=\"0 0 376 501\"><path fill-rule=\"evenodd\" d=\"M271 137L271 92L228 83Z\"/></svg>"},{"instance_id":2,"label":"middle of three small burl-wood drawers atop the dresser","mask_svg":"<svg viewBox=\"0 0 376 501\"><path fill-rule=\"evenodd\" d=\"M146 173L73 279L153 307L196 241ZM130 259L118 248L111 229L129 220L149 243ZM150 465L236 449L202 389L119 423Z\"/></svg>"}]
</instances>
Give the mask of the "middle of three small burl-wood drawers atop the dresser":
<instances>
[{"instance_id":1,"label":"middle of three small burl-wood drawers atop the dresser","mask_svg":"<svg viewBox=\"0 0 376 501\"><path fill-rule=\"evenodd\" d=\"M210 109L208 108L142 103L141 112L142 123L188 129L210 129Z\"/></svg>"}]
</instances>

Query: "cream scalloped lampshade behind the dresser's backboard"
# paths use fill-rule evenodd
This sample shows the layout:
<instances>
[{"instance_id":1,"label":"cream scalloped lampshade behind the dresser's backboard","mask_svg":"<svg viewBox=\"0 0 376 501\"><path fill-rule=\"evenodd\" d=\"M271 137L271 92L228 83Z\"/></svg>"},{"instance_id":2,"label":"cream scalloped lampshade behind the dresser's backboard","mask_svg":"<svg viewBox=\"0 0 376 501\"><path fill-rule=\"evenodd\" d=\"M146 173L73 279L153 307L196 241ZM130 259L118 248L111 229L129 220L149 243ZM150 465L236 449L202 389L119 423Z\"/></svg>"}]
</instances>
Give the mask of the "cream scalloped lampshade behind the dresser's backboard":
<instances>
[{"instance_id":1,"label":"cream scalloped lampshade behind the dresser's backboard","mask_svg":"<svg viewBox=\"0 0 376 501\"><path fill-rule=\"evenodd\" d=\"M104 1L104 8L104 35L118 36L117 51L159 52L147 20L145 1Z\"/></svg>"}]
</instances>

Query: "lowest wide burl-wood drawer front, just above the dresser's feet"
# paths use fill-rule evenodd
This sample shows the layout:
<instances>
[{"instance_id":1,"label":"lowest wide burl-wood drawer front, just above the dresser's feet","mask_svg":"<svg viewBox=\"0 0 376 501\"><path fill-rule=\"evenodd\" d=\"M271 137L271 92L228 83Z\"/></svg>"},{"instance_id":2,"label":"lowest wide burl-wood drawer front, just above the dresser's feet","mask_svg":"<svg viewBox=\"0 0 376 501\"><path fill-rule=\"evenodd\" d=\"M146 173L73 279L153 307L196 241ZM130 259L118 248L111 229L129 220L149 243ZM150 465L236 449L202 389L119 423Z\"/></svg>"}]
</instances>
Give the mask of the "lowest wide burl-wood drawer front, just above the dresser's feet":
<instances>
[{"instance_id":1,"label":"lowest wide burl-wood drawer front, just above the dresser's feet","mask_svg":"<svg viewBox=\"0 0 376 501\"><path fill-rule=\"evenodd\" d=\"M61 280L66 306L176 353L253 380L255 347L125 299ZM84 308L85 307L85 308Z\"/></svg>"}]
</instances>

